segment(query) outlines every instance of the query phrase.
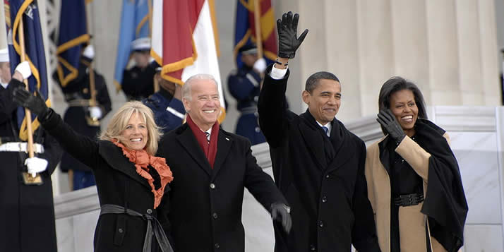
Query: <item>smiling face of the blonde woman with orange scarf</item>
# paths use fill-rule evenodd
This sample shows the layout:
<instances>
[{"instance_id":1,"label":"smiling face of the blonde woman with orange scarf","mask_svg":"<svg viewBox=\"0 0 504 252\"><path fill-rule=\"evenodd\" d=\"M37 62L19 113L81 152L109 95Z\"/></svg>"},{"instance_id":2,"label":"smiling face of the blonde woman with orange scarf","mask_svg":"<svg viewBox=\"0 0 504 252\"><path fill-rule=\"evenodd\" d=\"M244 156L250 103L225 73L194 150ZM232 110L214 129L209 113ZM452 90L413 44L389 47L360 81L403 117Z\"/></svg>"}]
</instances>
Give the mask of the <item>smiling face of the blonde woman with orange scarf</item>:
<instances>
[{"instance_id":1,"label":"smiling face of the blonde woman with orange scarf","mask_svg":"<svg viewBox=\"0 0 504 252\"><path fill-rule=\"evenodd\" d=\"M130 150L143 150L148 141L148 130L140 113L133 113L121 132L121 143Z\"/></svg>"}]
</instances>

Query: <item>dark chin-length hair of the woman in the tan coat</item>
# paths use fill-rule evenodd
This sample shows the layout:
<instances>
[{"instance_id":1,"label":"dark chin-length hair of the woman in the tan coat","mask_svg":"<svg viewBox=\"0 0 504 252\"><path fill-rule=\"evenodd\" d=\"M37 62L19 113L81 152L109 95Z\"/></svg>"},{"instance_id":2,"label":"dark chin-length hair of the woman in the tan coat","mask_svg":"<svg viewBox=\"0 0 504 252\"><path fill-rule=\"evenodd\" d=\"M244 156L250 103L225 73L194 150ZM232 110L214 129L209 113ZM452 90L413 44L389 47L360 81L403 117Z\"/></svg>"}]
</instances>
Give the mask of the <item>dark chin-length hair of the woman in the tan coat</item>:
<instances>
[{"instance_id":1,"label":"dark chin-length hair of the woman in the tan coat","mask_svg":"<svg viewBox=\"0 0 504 252\"><path fill-rule=\"evenodd\" d=\"M418 118L427 119L424 95L421 94L421 91L414 83L400 76L394 76L388 79L381 86L380 95L378 95L378 111L390 109L390 95L401 90L411 90L413 92L416 107L419 108ZM386 134L383 127L382 131Z\"/></svg>"}]
</instances>

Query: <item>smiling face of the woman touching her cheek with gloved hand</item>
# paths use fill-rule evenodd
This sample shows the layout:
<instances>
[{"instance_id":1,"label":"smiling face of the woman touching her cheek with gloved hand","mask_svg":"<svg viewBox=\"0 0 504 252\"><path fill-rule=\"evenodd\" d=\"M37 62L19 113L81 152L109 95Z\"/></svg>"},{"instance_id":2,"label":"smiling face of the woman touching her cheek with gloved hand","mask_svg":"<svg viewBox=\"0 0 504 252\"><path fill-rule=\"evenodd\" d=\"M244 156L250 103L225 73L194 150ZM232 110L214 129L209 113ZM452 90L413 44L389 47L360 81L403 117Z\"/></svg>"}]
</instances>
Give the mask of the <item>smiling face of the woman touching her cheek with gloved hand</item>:
<instances>
[{"instance_id":1,"label":"smiling face of the woman touching her cheek with gloved hand","mask_svg":"<svg viewBox=\"0 0 504 252\"><path fill-rule=\"evenodd\" d=\"M415 133L415 123L418 119L419 108L416 107L415 96L412 90L399 90L390 95L390 110L401 125L407 136Z\"/></svg>"}]
</instances>

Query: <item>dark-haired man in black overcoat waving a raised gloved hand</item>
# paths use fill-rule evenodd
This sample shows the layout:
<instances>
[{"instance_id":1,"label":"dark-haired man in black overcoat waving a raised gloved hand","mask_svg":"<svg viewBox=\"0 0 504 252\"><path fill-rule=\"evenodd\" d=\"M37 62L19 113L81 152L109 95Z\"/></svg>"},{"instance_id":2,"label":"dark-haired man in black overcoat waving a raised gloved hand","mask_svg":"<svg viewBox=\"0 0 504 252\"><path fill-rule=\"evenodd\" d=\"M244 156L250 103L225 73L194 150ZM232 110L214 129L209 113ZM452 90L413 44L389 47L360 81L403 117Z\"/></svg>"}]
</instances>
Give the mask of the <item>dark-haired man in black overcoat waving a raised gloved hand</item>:
<instances>
[{"instance_id":1,"label":"dark-haired man in black overcoat waving a raised gloved hand","mask_svg":"<svg viewBox=\"0 0 504 252\"><path fill-rule=\"evenodd\" d=\"M314 73L302 93L308 109L294 114L284 95L293 59L308 30L296 35L299 15L277 20L277 63L266 69L258 102L275 183L292 207L292 231L275 224L275 251L380 251L367 197L366 146L335 119L341 84L328 72Z\"/></svg>"}]
</instances>

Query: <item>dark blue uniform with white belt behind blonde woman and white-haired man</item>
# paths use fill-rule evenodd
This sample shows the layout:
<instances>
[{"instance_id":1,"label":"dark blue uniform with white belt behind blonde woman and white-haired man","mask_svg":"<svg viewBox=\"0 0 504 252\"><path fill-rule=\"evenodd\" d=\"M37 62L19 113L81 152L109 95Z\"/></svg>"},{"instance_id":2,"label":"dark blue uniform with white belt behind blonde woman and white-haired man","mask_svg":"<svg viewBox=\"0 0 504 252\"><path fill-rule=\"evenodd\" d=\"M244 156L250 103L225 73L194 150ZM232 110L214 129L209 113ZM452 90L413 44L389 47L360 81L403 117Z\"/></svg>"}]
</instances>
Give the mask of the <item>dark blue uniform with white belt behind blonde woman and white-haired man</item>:
<instances>
[{"instance_id":1,"label":"dark blue uniform with white belt behind blonde woman and white-haired man","mask_svg":"<svg viewBox=\"0 0 504 252\"><path fill-rule=\"evenodd\" d=\"M142 102L152 109L156 124L162 128L163 133L168 133L180 126L184 120L186 114L184 104L181 100L174 99L173 95L164 88L160 88L160 91Z\"/></svg>"}]
</instances>

